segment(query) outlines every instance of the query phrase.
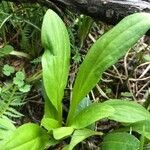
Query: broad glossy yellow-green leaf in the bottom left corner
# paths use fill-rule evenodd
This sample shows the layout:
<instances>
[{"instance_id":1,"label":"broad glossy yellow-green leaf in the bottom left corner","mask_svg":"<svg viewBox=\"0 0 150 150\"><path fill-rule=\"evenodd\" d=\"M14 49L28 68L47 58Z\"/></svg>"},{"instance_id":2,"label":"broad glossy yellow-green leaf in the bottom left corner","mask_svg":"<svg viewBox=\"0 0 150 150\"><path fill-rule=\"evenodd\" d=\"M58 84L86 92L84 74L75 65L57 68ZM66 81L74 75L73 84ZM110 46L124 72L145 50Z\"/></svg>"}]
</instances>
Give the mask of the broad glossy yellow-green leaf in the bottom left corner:
<instances>
[{"instance_id":1,"label":"broad glossy yellow-green leaf in the bottom left corner","mask_svg":"<svg viewBox=\"0 0 150 150\"><path fill-rule=\"evenodd\" d=\"M5 150L44 150L49 142L47 132L33 123L27 123L15 130L5 144Z\"/></svg>"}]
</instances>

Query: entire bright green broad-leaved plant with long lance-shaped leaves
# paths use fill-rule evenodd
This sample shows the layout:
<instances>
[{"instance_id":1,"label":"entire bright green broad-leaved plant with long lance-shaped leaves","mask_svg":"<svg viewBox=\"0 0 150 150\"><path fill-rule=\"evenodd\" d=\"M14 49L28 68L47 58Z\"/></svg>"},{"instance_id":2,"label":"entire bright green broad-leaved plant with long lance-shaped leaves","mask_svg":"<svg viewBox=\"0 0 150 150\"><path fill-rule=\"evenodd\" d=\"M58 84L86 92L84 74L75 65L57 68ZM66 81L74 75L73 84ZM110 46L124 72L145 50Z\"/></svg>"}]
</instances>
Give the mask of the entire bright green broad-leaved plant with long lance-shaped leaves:
<instances>
[{"instance_id":1,"label":"entire bright green broad-leaved plant with long lance-shaped leaves","mask_svg":"<svg viewBox=\"0 0 150 150\"><path fill-rule=\"evenodd\" d=\"M62 117L62 99L67 84L70 61L70 42L67 29L52 10L44 16L42 25L42 56L45 111L41 125L27 123L14 129L3 138L4 150L44 150L71 137L63 150L72 150L84 139L104 133L93 130L96 121L108 118L122 123L122 131L104 137L102 150L142 150L143 140L127 131L138 132L150 140L148 126L150 113L140 104L125 100L108 100L90 103L86 95L99 81L102 73L132 47L150 28L150 14L136 13L123 19L118 25L99 38L90 48L79 67L67 120ZM23 78L22 78L23 79ZM18 84L19 82L17 82ZM3 120L5 121L5 120ZM7 128L4 123L0 124ZM43 129L43 127L45 129ZM29 133L29 134L27 134ZM130 132L132 133L132 132ZM126 140L124 139L126 138ZM115 144L115 143L119 144Z\"/></svg>"}]
</instances>

